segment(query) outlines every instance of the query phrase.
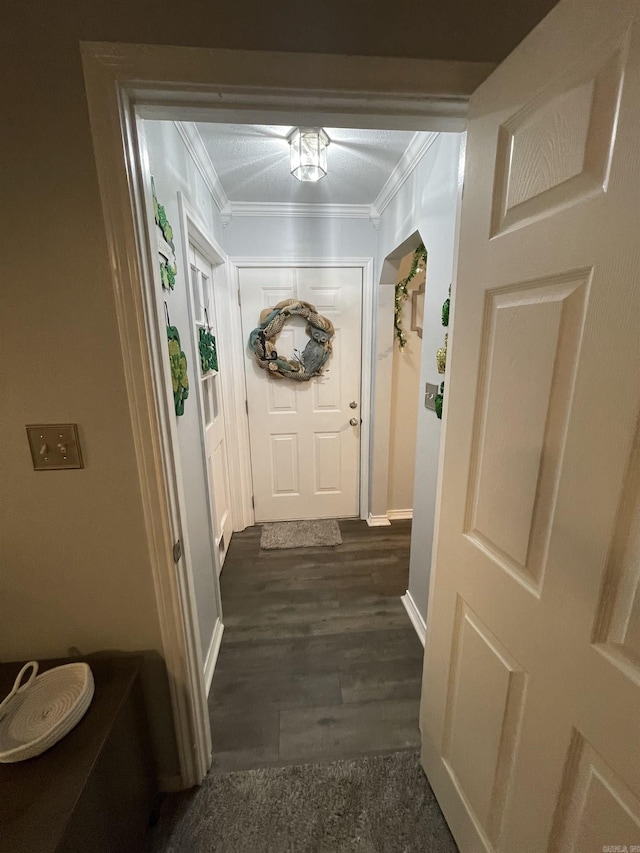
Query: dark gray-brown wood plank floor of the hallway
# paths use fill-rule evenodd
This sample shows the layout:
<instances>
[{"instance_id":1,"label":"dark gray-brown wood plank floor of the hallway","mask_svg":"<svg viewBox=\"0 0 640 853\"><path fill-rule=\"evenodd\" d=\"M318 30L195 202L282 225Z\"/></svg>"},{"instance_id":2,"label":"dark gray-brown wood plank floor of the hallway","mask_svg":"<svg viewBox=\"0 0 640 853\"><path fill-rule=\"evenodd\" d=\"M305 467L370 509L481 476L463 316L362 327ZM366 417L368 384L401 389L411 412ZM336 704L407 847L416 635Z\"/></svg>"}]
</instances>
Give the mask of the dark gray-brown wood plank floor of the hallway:
<instances>
[{"instance_id":1,"label":"dark gray-brown wood plank floor of the hallway","mask_svg":"<svg viewBox=\"0 0 640 853\"><path fill-rule=\"evenodd\" d=\"M236 533L209 698L214 767L415 748L422 646L402 606L411 522L341 521L334 548L261 551Z\"/></svg>"}]
</instances>

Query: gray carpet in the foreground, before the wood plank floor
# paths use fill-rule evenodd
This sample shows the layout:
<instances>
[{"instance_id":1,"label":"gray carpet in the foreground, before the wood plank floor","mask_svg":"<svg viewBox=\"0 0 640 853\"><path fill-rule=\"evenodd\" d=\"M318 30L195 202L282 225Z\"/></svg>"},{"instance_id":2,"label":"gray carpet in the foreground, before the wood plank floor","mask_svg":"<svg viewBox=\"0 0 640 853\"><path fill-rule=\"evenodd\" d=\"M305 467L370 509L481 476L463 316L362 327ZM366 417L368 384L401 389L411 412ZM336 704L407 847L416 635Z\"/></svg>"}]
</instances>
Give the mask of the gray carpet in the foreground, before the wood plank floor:
<instances>
[{"instance_id":1,"label":"gray carpet in the foreground, before the wood plank floor","mask_svg":"<svg viewBox=\"0 0 640 853\"><path fill-rule=\"evenodd\" d=\"M210 773L169 798L154 853L456 853L415 752Z\"/></svg>"}]
</instances>

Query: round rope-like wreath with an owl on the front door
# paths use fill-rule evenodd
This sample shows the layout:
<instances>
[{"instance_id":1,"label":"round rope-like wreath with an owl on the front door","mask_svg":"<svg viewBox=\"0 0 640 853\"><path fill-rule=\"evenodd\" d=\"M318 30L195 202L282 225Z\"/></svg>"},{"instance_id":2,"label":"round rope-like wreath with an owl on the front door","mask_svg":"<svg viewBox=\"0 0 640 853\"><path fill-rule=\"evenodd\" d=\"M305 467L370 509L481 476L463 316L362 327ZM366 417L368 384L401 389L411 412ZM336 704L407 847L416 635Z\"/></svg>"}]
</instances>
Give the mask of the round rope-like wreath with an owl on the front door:
<instances>
[{"instance_id":1,"label":"round rope-like wreath with an owl on the front door","mask_svg":"<svg viewBox=\"0 0 640 853\"><path fill-rule=\"evenodd\" d=\"M295 352L291 359L284 358L276 350L276 339L289 317L304 317L311 339L303 352ZM312 376L322 373L332 352L334 332L331 320L318 314L315 305L299 299L285 299L261 312L260 325L249 335L249 349L269 376L308 382Z\"/></svg>"}]
</instances>

